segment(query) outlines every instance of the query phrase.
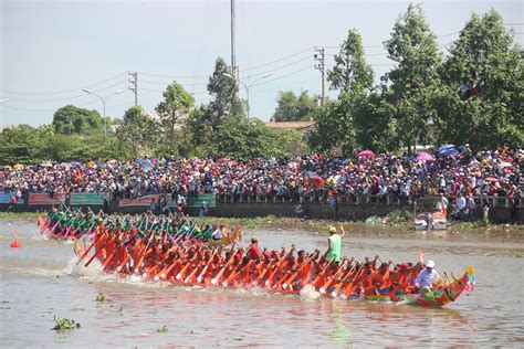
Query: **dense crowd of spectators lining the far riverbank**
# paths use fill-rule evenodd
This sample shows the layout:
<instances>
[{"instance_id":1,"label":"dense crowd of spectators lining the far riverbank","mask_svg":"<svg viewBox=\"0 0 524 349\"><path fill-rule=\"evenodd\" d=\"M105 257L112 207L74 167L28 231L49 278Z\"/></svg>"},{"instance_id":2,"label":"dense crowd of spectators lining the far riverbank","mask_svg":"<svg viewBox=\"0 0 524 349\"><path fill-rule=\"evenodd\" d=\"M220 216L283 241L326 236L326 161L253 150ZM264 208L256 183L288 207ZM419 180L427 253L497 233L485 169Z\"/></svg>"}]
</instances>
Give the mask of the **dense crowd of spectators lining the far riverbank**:
<instances>
[{"instance_id":1,"label":"dense crowd of spectators lining the far riverbank","mask_svg":"<svg viewBox=\"0 0 524 349\"><path fill-rule=\"evenodd\" d=\"M140 159L13 165L0 169L0 190L23 197L111 192L113 198L165 193L176 199L217 193L224 200L319 200L366 203L443 194L520 198L524 150L473 152L469 145L413 156L363 151L352 158L310 155L290 160Z\"/></svg>"}]
</instances>

